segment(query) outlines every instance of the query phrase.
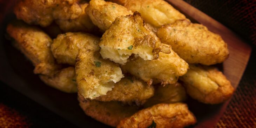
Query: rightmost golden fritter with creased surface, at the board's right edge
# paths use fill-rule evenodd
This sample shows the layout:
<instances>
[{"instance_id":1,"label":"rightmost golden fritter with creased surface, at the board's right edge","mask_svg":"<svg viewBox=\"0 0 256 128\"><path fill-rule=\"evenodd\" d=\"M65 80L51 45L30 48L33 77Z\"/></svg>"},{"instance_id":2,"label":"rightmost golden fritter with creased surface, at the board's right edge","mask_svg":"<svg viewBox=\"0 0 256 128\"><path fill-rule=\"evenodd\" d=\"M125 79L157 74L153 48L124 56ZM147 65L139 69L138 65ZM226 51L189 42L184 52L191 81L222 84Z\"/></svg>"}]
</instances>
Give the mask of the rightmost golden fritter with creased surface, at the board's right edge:
<instances>
[{"instance_id":1,"label":"rightmost golden fritter with creased surface, at the board's right edge","mask_svg":"<svg viewBox=\"0 0 256 128\"><path fill-rule=\"evenodd\" d=\"M214 67L189 65L188 72L180 77L187 93L194 99L208 104L222 103L234 93L230 81Z\"/></svg>"}]
</instances>

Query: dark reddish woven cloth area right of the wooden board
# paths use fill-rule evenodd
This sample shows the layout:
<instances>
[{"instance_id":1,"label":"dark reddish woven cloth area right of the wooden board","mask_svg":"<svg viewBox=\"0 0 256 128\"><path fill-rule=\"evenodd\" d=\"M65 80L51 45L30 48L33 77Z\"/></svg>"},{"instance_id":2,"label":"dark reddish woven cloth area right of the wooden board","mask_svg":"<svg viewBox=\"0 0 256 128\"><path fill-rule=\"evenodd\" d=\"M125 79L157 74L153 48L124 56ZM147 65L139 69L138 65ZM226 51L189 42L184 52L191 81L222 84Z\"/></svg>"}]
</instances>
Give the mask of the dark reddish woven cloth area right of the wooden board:
<instances>
[{"instance_id":1,"label":"dark reddish woven cloth area right of the wooden board","mask_svg":"<svg viewBox=\"0 0 256 128\"><path fill-rule=\"evenodd\" d=\"M243 78L216 128L256 128L256 0L184 0L252 45Z\"/></svg>"}]
</instances>

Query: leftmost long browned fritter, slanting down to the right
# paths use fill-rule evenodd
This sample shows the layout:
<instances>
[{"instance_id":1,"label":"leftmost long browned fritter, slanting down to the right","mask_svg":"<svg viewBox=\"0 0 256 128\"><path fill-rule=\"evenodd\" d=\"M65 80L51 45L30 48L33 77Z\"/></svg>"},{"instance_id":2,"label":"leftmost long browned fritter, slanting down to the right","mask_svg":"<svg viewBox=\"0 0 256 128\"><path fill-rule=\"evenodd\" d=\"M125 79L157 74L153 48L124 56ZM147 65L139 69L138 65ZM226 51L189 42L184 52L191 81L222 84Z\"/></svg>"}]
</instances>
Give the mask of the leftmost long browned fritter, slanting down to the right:
<instances>
[{"instance_id":1,"label":"leftmost long browned fritter, slanting down to the right","mask_svg":"<svg viewBox=\"0 0 256 128\"><path fill-rule=\"evenodd\" d=\"M35 74L53 75L59 66L54 64L50 51L52 39L39 28L14 21L7 26L7 33L16 42L15 46L32 61Z\"/></svg>"}]
</instances>

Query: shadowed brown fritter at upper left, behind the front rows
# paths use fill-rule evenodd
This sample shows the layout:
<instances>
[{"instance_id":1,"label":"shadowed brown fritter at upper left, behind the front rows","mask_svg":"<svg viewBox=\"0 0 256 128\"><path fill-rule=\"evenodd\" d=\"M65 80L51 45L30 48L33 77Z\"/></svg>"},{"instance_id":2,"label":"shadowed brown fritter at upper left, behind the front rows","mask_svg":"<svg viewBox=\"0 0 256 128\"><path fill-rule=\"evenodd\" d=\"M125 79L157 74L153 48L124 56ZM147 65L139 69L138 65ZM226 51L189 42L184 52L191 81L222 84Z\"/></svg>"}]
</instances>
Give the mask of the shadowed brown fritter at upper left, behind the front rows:
<instances>
[{"instance_id":1,"label":"shadowed brown fritter at upper left, behind the front rows","mask_svg":"<svg viewBox=\"0 0 256 128\"><path fill-rule=\"evenodd\" d=\"M82 13L78 16L78 18L73 20L55 20L55 22L65 32L96 32L99 28L93 24L89 18L89 15L85 12L85 8L88 5L89 4L87 2L80 4Z\"/></svg>"}]
</instances>

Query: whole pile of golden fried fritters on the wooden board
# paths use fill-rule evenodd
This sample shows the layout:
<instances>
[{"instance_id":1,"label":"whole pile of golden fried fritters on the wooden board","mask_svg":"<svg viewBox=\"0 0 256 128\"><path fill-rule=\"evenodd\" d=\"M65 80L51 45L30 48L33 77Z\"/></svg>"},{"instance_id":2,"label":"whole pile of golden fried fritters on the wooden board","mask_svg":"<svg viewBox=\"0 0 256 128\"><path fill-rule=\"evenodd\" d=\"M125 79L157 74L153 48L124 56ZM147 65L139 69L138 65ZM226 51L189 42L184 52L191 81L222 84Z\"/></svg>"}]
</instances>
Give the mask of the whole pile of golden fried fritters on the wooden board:
<instances>
[{"instance_id":1,"label":"whole pile of golden fried fritters on the wooden board","mask_svg":"<svg viewBox=\"0 0 256 128\"><path fill-rule=\"evenodd\" d=\"M110 126L186 127L186 94L217 104L234 93L209 66L228 58L221 36L164 0L22 0L14 13L7 33L34 73Z\"/></svg>"}]
</instances>

